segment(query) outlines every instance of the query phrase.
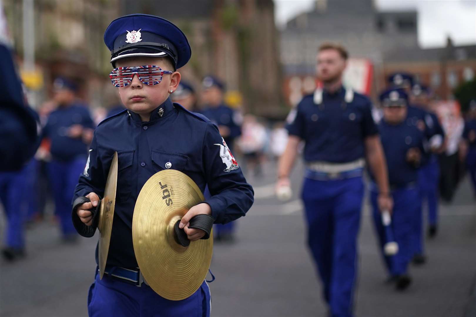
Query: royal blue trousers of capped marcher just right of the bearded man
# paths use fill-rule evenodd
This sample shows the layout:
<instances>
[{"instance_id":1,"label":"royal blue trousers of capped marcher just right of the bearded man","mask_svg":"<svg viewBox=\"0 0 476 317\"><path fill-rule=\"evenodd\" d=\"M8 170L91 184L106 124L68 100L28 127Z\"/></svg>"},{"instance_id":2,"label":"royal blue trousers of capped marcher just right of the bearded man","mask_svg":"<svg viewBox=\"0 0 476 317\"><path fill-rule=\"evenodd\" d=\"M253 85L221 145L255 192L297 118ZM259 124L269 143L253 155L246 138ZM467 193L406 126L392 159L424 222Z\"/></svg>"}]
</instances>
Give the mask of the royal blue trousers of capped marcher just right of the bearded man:
<instances>
[{"instance_id":1,"label":"royal blue trousers of capped marcher just right of the bearded man","mask_svg":"<svg viewBox=\"0 0 476 317\"><path fill-rule=\"evenodd\" d=\"M414 239L416 237L413 221L415 221L416 215L419 212L420 194L417 188L404 188L392 191L394 207L390 230L393 231L395 242L398 243L398 253L391 257L386 256L383 250L385 243L388 241L385 238L385 229L378 209L377 196L377 192L372 191L370 193L370 201L373 208L372 218L382 257L390 276L406 274L408 263L414 254Z\"/></svg>"}]
</instances>

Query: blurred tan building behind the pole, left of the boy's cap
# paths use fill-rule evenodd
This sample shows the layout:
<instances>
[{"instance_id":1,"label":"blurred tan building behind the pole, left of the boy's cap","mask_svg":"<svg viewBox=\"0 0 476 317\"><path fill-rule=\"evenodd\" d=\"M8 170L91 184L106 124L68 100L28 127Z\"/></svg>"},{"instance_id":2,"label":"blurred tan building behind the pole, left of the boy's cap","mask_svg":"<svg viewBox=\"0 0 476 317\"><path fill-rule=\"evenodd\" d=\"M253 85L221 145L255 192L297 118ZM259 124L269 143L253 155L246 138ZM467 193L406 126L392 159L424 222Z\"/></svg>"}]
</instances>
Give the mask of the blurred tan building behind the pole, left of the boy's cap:
<instances>
[{"instance_id":1,"label":"blurred tan building behind the pole, left of the boy's cap","mask_svg":"<svg viewBox=\"0 0 476 317\"><path fill-rule=\"evenodd\" d=\"M103 42L109 21L118 15L112 0L34 0L33 20L35 67L42 85L35 87L41 102L48 99L55 77L70 77L79 85L79 96L92 106L106 105L114 87L108 83L110 53ZM23 1L5 0L3 9L13 47L22 69ZM29 32L29 30L26 30ZM108 88L108 86L111 86ZM37 105L34 105L37 106Z\"/></svg>"}]
</instances>

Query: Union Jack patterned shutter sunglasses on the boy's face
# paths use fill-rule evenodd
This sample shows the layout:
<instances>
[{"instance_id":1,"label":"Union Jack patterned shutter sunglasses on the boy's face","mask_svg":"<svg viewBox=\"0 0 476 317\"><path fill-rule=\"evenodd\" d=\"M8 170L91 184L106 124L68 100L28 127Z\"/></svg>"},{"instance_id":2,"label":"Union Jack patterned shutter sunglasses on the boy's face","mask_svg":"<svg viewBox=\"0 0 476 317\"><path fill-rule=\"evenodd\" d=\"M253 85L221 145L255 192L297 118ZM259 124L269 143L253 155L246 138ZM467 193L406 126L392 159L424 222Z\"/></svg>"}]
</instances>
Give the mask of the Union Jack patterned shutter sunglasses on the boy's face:
<instances>
[{"instance_id":1,"label":"Union Jack patterned shutter sunglasses on the boy's face","mask_svg":"<svg viewBox=\"0 0 476 317\"><path fill-rule=\"evenodd\" d=\"M125 87L130 84L134 74L137 74L139 80L145 85L157 85L162 81L162 75L172 74L169 70L162 70L159 66L145 65L145 66L128 66L114 68L109 74L112 85L115 87Z\"/></svg>"}]
</instances>

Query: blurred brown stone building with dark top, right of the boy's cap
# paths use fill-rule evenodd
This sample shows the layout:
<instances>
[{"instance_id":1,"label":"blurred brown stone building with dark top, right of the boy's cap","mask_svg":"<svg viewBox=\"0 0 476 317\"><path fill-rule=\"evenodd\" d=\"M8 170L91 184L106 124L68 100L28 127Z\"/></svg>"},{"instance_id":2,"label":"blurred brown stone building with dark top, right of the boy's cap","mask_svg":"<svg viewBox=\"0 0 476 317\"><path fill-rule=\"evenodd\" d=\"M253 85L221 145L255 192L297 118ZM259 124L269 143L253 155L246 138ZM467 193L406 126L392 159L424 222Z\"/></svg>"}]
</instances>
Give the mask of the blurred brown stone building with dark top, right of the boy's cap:
<instances>
[{"instance_id":1,"label":"blurred brown stone building with dark top, right of the boy's cap","mask_svg":"<svg viewBox=\"0 0 476 317\"><path fill-rule=\"evenodd\" d=\"M280 106L278 31L272 0L120 0L120 13L169 19L188 37L192 58L182 77L200 88L213 74L239 91L246 112L274 116Z\"/></svg>"}]
</instances>

